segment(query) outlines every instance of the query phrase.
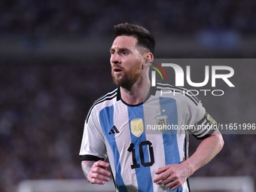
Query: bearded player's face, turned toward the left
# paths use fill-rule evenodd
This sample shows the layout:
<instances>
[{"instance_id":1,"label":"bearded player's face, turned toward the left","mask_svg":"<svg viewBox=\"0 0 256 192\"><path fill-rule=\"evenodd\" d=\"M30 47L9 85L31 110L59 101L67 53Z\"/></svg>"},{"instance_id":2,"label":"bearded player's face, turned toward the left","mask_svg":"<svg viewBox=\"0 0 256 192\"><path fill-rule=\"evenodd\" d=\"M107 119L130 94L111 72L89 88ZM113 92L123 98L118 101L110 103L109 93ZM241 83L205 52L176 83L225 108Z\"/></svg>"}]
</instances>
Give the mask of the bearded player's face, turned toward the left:
<instances>
[{"instance_id":1,"label":"bearded player's face, turned toward the left","mask_svg":"<svg viewBox=\"0 0 256 192\"><path fill-rule=\"evenodd\" d=\"M142 80L143 56L136 43L137 39L132 36L118 36L110 49L114 84L127 90Z\"/></svg>"}]
</instances>

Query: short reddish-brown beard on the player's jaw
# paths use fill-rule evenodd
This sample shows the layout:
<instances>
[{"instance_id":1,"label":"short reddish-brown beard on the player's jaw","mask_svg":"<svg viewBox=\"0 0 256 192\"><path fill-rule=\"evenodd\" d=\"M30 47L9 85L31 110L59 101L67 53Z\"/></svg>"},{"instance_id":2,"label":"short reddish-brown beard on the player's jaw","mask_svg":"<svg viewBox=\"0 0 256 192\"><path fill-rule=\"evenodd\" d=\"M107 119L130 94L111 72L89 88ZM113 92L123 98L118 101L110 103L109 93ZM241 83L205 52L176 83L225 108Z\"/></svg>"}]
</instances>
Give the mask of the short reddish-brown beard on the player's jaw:
<instances>
[{"instance_id":1,"label":"short reddish-brown beard on the player's jaw","mask_svg":"<svg viewBox=\"0 0 256 192\"><path fill-rule=\"evenodd\" d=\"M141 74L136 69L130 69L129 71L123 71L123 77L119 78L120 75L114 76L114 71L112 70L112 77L114 84L123 87L126 90L131 90L134 84L139 81Z\"/></svg>"}]
</instances>

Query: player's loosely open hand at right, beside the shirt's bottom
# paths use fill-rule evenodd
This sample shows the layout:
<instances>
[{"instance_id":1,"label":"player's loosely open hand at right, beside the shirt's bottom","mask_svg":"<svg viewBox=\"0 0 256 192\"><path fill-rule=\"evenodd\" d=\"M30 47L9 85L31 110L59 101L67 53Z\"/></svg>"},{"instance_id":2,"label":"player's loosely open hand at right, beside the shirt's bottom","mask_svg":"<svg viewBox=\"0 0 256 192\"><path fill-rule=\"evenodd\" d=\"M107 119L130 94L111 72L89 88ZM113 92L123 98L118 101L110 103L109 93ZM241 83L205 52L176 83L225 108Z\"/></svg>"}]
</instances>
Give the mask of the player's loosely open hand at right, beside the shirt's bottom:
<instances>
[{"instance_id":1,"label":"player's loosely open hand at right, beside the shirt's bottom","mask_svg":"<svg viewBox=\"0 0 256 192\"><path fill-rule=\"evenodd\" d=\"M183 163L163 166L155 172L158 176L154 179L154 183L164 184L171 190L176 190L192 175L191 172L190 166Z\"/></svg>"}]
</instances>

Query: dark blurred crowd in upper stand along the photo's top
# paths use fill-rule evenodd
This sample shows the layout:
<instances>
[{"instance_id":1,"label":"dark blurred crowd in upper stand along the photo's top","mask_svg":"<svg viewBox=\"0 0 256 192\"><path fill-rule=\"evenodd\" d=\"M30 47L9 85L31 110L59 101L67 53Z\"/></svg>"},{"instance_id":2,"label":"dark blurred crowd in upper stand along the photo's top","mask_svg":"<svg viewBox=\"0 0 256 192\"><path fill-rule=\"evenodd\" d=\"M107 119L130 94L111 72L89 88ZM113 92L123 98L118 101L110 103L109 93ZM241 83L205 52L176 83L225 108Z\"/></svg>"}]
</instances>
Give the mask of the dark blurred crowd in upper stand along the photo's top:
<instances>
[{"instance_id":1,"label":"dark blurred crowd in upper stand along the photo's top","mask_svg":"<svg viewBox=\"0 0 256 192\"><path fill-rule=\"evenodd\" d=\"M251 0L3 0L0 31L44 38L55 35L111 35L117 23L143 24L155 35L201 30L256 32Z\"/></svg>"}]
</instances>

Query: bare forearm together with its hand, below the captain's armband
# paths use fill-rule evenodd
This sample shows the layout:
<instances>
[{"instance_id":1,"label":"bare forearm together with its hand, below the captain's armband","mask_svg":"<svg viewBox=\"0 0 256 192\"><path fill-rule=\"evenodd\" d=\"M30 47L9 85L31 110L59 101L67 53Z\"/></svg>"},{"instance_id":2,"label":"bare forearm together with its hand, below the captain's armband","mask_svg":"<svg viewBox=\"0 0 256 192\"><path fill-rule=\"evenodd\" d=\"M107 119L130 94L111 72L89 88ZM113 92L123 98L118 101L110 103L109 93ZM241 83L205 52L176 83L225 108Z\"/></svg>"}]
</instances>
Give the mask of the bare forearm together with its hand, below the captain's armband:
<instances>
[{"instance_id":1,"label":"bare forearm together with its hand, below the captain's armband","mask_svg":"<svg viewBox=\"0 0 256 192\"><path fill-rule=\"evenodd\" d=\"M200 143L197 151L190 158L179 164L164 166L155 172L158 176L154 182L164 184L171 190L178 189L197 169L209 163L221 151L223 145L221 133L216 130L215 133Z\"/></svg>"}]
</instances>

